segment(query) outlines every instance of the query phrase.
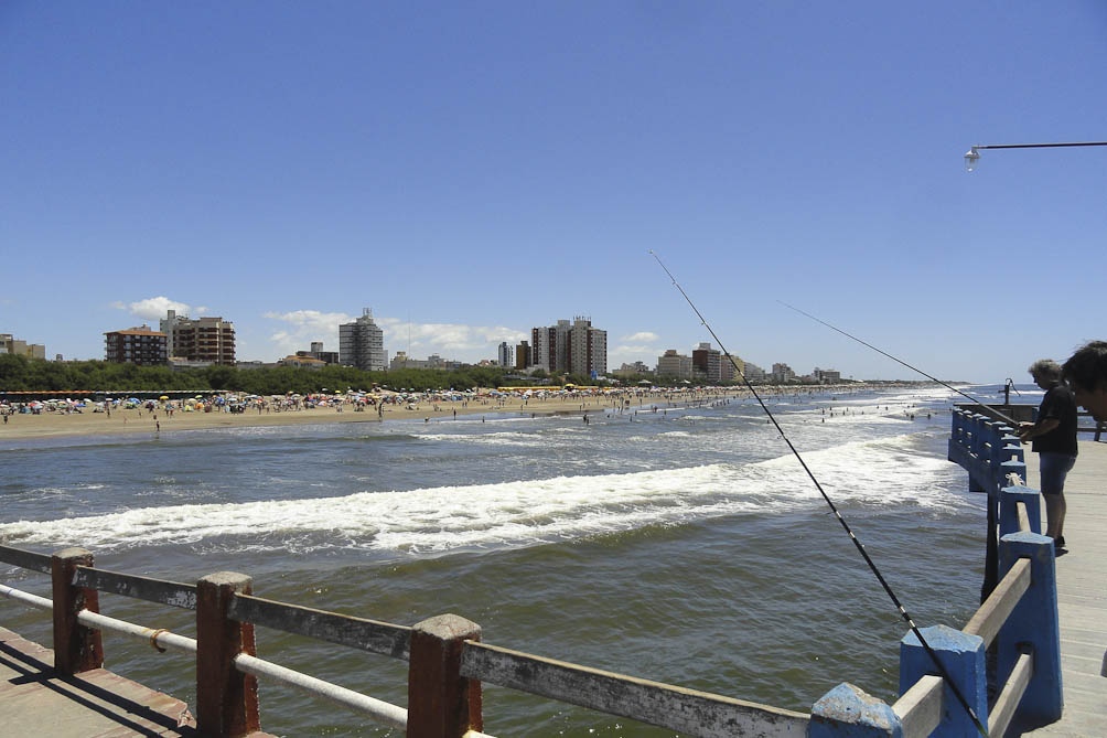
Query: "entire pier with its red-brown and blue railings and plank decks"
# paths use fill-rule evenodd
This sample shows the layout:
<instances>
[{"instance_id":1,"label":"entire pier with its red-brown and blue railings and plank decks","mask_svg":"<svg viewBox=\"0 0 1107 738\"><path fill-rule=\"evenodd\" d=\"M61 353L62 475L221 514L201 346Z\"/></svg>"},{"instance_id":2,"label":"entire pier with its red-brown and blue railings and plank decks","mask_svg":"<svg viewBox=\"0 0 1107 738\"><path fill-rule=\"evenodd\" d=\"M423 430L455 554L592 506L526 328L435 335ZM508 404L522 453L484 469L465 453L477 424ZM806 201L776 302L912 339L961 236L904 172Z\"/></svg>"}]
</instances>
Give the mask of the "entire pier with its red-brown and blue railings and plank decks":
<instances>
[{"instance_id":1,"label":"entire pier with its red-brown and blue railings and plank decks","mask_svg":"<svg viewBox=\"0 0 1107 738\"><path fill-rule=\"evenodd\" d=\"M951 460L969 471L973 489L996 501L996 576L970 623L922 632L990 735L1107 735L1107 444L1080 441L1066 486L1068 552L1055 556L1052 540L1041 535L1037 458L1001 423L971 413L955 413L953 422ZM455 615L408 627L271 602L252 596L249 577L239 574L210 574L195 585L162 582L95 568L92 554L80 549L46 555L0 546L0 561L49 575L53 594L45 598L0 585L0 594L53 619L53 649L0 628L0 738L35 732L260 738L266 734L258 720L259 680L327 697L362 713L368 722L416 738L484 736L483 683L704 738L977 732L911 633L901 642L901 697L894 704L842 684L807 714L482 643L479 625ZM196 637L101 614L99 592L196 611ZM254 625L407 662L407 706L257 658ZM108 631L158 650L185 652L197 672L196 704L104 669L101 633ZM989 666L985 652L995 654ZM889 664L893 659L889 654Z\"/></svg>"}]
</instances>

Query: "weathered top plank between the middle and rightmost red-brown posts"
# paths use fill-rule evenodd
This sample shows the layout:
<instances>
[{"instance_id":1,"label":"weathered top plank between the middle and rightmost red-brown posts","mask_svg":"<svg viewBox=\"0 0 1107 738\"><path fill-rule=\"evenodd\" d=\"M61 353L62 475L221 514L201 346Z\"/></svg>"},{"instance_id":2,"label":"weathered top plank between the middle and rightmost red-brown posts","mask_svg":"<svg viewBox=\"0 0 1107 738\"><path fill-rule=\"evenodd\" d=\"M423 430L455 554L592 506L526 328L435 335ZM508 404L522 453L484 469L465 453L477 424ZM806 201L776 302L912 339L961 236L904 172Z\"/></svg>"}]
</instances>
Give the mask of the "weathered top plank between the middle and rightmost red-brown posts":
<instances>
[{"instance_id":1,"label":"weathered top plank between the middle and rightmost red-brown posts","mask_svg":"<svg viewBox=\"0 0 1107 738\"><path fill-rule=\"evenodd\" d=\"M360 648L382 656L407 660L411 657L411 628L352 615L273 602L236 594L229 617L268 628Z\"/></svg>"}]
</instances>

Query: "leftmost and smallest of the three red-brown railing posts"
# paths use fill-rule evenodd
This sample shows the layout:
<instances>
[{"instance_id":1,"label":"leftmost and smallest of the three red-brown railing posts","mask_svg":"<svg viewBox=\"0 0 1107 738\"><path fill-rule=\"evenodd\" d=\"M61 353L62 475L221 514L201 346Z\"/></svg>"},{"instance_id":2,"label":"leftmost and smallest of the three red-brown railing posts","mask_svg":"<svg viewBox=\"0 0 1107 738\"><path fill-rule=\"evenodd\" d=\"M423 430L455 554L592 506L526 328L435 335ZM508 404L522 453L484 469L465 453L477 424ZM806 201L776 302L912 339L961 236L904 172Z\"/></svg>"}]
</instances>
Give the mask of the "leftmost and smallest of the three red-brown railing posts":
<instances>
[{"instance_id":1,"label":"leftmost and smallest of the three red-brown railing posts","mask_svg":"<svg viewBox=\"0 0 1107 738\"><path fill-rule=\"evenodd\" d=\"M99 669L104 665L100 631L77 623L82 609L100 612L100 593L73 586L77 566L92 566L92 553L84 549L63 549L50 558L50 580L54 601L54 670L64 676Z\"/></svg>"}]
</instances>

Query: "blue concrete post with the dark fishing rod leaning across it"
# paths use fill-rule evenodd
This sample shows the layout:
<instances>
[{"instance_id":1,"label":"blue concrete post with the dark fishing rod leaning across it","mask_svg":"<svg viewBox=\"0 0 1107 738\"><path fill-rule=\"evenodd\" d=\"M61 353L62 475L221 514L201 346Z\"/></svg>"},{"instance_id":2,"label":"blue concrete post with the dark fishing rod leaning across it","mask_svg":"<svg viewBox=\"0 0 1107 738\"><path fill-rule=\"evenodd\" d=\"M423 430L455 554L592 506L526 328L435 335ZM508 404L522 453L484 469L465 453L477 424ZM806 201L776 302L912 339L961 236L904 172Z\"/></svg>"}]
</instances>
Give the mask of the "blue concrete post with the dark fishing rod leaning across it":
<instances>
[{"instance_id":1,"label":"blue concrete post with the dark fishing rod leaning across it","mask_svg":"<svg viewBox=\"0 0 1107 738\"><path fill-rule=\"evenodd\" d=\"M927 644L938 655L938 660L969 701L982 725L987 725L987 666L984 659L984 639L954 631L945 625L920 628ZM914 632L909 632L900 640L900 694L927 675L940 675L934 660L927 653ZM976 724L964 706L945 685L942 721L934 734L949 736L979 736Z\"/></svg>"}]
</instances>

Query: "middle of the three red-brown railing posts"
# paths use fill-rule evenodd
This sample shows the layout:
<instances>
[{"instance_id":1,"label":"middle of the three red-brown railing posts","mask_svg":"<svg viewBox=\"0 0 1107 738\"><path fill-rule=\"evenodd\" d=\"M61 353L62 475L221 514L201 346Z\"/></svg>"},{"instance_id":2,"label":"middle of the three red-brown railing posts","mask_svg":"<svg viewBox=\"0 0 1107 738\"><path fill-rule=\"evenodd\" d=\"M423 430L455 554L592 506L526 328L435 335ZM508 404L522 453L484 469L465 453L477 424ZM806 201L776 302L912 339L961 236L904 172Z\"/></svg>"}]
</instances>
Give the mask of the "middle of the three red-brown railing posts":
<instances>
[{"instance_id":1,"label":"middle of the three red-brown railing posts","mask_svg":"<svg viewBox=\"0 0 1107 738\"><path fill-rule=\"evenodd\" d=\"M258 680L235 668L256 655L254 625L227 617L236 592L250 594L245 574L218 572L196 583L196 727L205 736L239 738L260 730Z\"/></svg>"}]
</instances>

